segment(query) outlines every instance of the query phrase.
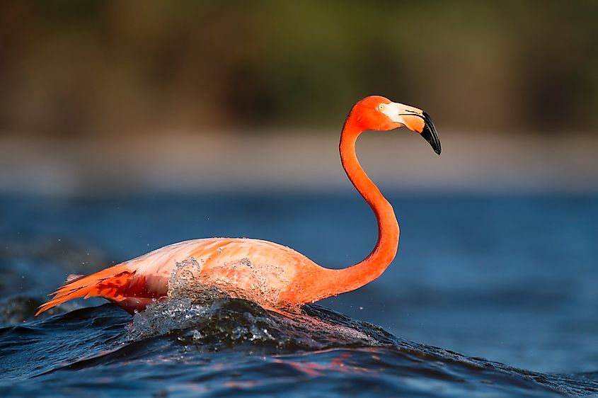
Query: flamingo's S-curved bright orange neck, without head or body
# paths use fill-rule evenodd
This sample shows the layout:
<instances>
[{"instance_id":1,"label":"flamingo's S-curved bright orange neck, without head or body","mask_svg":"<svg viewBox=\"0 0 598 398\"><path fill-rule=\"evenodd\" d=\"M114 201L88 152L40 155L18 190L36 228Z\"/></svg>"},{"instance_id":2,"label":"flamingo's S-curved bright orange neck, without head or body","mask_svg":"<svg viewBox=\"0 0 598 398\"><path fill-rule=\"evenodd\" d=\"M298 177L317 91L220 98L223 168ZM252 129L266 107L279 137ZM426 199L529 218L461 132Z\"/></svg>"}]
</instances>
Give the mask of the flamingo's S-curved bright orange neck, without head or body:
<instances>
[{"instance_id":1,"label":"flamingo's S-curved bright orange neck, without head or body","mask_svg":"<svg viewBox=\"0 0 598 398\"><path fill-rule=\"evenodd\" d=\"M329 288L331 295L349 292L378 278L393 261L398 249L398 222L391 204L369 179L355 154L355 142L362 133L348 118L340 135L340 159L343 169L369 207L372 207L378 222L378 241L372 253L360 263L335 272L335 281ZM330 281L332 282L332 281Z\"/></svg>"}]
</instances>

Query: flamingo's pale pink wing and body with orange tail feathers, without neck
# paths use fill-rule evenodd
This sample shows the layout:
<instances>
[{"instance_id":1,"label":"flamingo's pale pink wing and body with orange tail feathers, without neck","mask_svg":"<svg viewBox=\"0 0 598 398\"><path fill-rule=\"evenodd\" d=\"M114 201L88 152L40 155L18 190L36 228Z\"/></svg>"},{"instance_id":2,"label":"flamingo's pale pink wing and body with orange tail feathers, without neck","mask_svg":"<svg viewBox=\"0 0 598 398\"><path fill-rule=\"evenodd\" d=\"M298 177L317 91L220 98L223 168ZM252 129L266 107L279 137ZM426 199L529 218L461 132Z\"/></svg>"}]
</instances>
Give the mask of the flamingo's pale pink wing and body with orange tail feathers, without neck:
<instances>
[{"instance_id":1,"label":"flamingo's pale pink wing and body with orange tail feathers, without neck","mask_svg":"<svg viewBox=\"0 0 598 398\"><path fill-rule=\"evenodd\" d=\"M97 273L67 280L51 294L54 295L51 300L40 306L36 315L78 297L103 297L128 312L142 311L168 294L168 283L177 264L190 258L200 266L198 283L257 302L263 302L260 298L265 294L274 297L284 289L294 277L295 266L307 260L286 246L257 239L183 241Z\"/></svg>"}]
</instances>

